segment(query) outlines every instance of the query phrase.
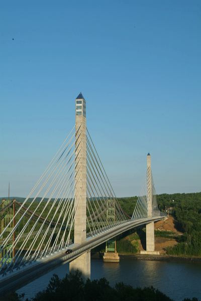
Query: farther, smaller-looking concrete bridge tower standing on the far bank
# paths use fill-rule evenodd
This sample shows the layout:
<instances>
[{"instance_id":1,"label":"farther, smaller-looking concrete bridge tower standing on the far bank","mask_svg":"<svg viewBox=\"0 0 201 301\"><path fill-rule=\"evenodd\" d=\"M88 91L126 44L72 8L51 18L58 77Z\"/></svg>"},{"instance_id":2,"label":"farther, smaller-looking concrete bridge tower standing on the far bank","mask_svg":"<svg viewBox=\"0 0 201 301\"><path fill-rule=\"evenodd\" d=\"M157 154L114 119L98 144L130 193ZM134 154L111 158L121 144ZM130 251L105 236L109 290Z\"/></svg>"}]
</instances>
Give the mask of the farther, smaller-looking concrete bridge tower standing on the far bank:
<instances>
[{"instance_id":1,"label":"farther, smaller-looking concrete bridge tower standing on the far bank","mask_svg":"<svg viewBox=\"0 0 201 301\"><path fill-rule=\"evenodd\" d=\"M147 215L152 217L152 175L151 175L151 156L147 155ZM158 255L159 251L155 251L154 240L154 222L146 225L146 251L141 254Z\"/></svg>"}]
</instances>

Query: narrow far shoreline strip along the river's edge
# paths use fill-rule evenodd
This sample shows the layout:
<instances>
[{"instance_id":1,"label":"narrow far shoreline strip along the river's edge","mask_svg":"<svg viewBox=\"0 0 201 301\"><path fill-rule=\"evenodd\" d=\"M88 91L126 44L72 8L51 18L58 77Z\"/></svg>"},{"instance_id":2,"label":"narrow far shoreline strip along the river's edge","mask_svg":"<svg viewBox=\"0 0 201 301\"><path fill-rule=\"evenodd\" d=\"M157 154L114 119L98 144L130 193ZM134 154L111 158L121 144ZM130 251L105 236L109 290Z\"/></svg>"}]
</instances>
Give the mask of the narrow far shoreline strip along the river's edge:
<instances>
[{"instance_id":1,"label":"narrow far shoreline strip along the river's edge","mask_svg":"<svg viewBox=\"0 0 201 301\"><path fill-rule=\"evenodd\" d=\"M103 253L91 253L91 258L103 258ZM141 254L126 254L119 253L120 260L130 258L134 260L155 260L155 261L185 261L185 262L201 262L201 257L196 256L175 256L175 255L141 255Z\"/></svg>"}]
</instances>

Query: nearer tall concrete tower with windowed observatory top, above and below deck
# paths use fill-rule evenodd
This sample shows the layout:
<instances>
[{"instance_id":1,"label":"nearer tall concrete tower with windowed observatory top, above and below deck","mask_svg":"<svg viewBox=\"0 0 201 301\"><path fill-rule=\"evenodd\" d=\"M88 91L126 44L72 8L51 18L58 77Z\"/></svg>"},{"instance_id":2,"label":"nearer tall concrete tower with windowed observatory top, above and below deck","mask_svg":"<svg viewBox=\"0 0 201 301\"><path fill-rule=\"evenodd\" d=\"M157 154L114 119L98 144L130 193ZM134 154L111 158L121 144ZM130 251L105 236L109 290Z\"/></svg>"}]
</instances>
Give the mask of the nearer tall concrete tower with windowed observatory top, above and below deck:
<instances>
[{"instance_id":1,"label":"nearer tall concrete tower with windowed observatory top, above and below deck","mask_svg":"<svg viewBox=\"0 0 201 301\"><path fill-rule=\"evenodd\" d=\"M74 243L86 240L86 101L80 93L75 99L75 202ZM90 277L90 251L70 262L70 271L79 269Z\"/></svg>"}]
</instances>

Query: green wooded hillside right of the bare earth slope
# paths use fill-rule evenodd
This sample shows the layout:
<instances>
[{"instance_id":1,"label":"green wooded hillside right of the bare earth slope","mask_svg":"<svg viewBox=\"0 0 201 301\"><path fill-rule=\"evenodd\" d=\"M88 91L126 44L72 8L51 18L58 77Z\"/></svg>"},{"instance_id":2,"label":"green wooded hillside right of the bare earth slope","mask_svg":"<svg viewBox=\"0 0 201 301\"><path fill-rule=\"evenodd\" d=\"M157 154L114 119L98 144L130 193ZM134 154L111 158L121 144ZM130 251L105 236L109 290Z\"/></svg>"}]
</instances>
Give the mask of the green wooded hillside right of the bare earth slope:
<instances>
[{"instance_id":1,"label":"green wooded hillside right of the bare earth slope","mask_svg":"<svg viewBox=\"0 0 201 301\"><path fill-rule=\"evenodd\" d=\"M178 244L168 247L169 255L201 255L201 192L161 194L157 196L161 210L171 208L177 230L183 235L177 238Z\"/></svg>"}]
</instances>

